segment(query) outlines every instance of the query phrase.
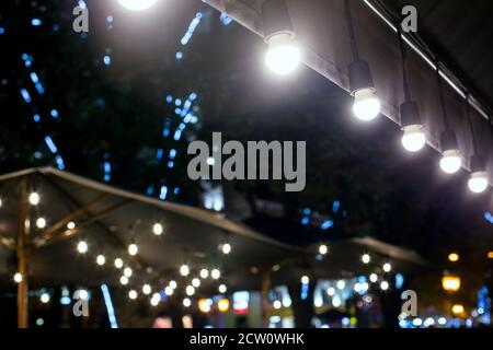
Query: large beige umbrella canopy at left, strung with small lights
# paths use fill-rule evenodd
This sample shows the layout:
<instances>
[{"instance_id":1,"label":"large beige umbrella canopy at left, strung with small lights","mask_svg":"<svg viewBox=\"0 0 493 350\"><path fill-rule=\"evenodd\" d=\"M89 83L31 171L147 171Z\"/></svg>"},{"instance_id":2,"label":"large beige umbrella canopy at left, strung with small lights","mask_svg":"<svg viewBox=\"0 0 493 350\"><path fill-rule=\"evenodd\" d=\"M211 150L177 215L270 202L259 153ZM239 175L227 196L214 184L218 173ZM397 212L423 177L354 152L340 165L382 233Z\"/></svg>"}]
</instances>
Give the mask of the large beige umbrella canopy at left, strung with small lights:
<instances>
[{"instance_id":1,"label":"large beige umbrella canopy at left, strung with small lights","mask_svg":"<svg viewBox=\"0 0 493 350\"><path fill-rule=\"evenodd\" d=\"M19 187L23 179L27 194L35 191L41 198L37 206L27 206L31 285L118 283L123 268L116 268L114 260L121 258L124 268L133 270L127 288L142 283L162 288L165 284L161 283L172 279L190 283L202 269L210 272L217 268L221 277L210 285L260 289L261 271L308 254L221 213L160 201L46 167L0 176L2 273L12 275L16 268ZM46 221L43 229L36 226L39 218ZM74 223L71 230L67 228L69 222ZM162 225L161 235L153 233L157 223ZM77 249L80 241L88 244L84 254ZM232 247L228 255L219 249L226 242ZM138 246L136 256L127 252L131 243ZM104 266L96 264L100 254L105 256ZM191 268L185 278L179 272L183 264Z\"/></svg>"}]
</instances>

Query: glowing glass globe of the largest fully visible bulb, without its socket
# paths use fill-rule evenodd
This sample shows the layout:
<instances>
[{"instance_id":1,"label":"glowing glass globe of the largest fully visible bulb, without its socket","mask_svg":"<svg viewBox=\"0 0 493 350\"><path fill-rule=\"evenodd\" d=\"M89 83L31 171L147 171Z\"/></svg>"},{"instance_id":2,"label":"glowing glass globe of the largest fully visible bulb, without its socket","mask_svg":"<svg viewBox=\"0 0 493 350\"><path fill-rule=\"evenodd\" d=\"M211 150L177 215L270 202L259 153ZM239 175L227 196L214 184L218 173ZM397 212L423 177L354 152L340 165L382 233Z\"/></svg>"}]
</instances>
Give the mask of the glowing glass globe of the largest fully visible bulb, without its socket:
<instances>
[{"instance_id":1,"label":"glowing glass globe of the largest fully visible bulb, without its socket","mask_svg":"<svg viewBox=\"0 0 493 350\"><path fill-rule=\"evenodd\" d=\"M301 61L301 50L295 42L295 35L280 32L266 39L268 44L265 63L278 75L287 75L296 70Z\"/></svg>"}]
</instances>

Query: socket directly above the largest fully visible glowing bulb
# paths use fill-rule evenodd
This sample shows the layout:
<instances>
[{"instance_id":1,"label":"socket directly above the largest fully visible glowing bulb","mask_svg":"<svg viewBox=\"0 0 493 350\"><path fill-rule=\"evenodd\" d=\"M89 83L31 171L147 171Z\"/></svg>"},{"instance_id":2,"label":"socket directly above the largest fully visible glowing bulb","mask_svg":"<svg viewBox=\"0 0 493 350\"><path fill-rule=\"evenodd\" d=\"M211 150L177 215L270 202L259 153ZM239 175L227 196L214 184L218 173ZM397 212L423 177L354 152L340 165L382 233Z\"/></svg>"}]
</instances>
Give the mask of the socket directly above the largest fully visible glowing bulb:
<instances>
[{"instance_id":1,"label":"socket directly above the largest fully visible glowing bulb","mask_svg":"<svg viewBox=\"0 0 493 350\"><path fill-rule=\"evenodd\" d=\"M264 1L262 3L262 22L266 43L276 34L289 34L291 37L295 37L285 0Z\"/></svg>"}]
</instances>

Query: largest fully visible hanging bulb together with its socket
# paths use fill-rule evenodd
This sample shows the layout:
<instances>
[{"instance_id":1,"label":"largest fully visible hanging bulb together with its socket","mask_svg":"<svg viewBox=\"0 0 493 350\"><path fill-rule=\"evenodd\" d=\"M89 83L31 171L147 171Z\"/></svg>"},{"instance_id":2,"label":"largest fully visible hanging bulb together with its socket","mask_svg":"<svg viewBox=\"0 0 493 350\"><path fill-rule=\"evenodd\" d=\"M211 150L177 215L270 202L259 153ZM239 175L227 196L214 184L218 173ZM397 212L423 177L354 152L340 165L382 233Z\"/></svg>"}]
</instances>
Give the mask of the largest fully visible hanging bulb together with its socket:
<instances>
[{"instance_id":1,"label":"largest fully visible hanging bulb together with its socket","mask_svg":"<svg viewBox=\"0 0 493 350\"><path fill-rule=\"evenodd\" d=\"M268 45L265 63L276 74L289 74L299 66L301 50L295 42L296 34L285 1L264 1L262 19Z\"/></svg>"}]
</instances>

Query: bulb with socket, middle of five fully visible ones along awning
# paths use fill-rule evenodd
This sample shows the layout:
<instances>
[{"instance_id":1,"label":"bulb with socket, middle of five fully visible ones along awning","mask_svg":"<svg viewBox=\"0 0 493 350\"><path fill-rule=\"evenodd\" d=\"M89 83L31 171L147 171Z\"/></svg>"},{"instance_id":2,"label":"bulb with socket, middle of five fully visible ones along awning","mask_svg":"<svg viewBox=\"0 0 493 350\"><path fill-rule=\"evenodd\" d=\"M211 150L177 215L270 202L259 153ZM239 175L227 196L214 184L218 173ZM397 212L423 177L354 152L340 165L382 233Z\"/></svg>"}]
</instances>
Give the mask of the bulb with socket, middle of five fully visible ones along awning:
<instances>
[{"instance_id":1,"label":"bulb with socket, middle of five fully visible ones along awning","mask_svg":"<svg viewBox=\"0 0 493 350\"><path fill-rule=\"evenodd\" d=\"M417 103L408 101L401 104L402 145L409 152L419 152L426 144L426 136L421 124Z\"/></svg>"}]
</instances>

